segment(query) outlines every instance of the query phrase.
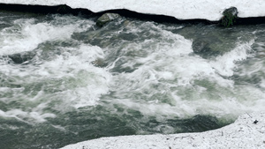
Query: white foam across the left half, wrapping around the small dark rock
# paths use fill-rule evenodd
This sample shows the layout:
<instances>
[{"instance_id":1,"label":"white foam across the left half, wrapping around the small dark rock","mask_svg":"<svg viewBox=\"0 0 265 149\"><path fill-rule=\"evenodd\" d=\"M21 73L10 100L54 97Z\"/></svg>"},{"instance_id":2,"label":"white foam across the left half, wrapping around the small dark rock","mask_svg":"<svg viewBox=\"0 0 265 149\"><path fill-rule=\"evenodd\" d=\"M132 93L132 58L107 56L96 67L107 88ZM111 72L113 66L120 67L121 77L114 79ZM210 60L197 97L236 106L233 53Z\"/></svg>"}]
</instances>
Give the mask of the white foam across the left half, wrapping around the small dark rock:
<instances>
[{"instance_id":1,"label":"white foam across the left half, wrapping around the small dark rock","mask_svg":"<svg viewBox=\"0 0 265 149\"><path fill-rule=\"evenodd\" d=\"M92 25L86 19L52 16L50 22L16 19L13 26L4 28L2 56L28 50L36 51L36 56L32 63L22 65L1 59L1 101L12 105L1 115L43 123L57 116L51 110L60 113L97 104L101 94L108 93L110 81L110 73L93 64L104 57L102 48L71 39ZM78 46L65 47L65 41ZM59 45L49 49L46 43L50 42Z\"/></svg>"}]
</instances>

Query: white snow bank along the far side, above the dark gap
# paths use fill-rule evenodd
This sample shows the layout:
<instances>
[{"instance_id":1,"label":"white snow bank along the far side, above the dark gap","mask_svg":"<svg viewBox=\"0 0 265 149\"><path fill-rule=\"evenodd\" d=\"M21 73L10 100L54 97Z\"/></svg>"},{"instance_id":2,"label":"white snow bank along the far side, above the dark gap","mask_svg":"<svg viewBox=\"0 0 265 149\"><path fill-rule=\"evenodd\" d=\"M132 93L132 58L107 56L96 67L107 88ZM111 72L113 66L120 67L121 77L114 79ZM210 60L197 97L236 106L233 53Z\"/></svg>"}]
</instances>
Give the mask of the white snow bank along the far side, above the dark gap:
<instances>
[{"instance_id":1,"label":"white snow bank along the far side, above the dark gap","mask_svg":"<svg viewBox=\"0 0 265 149\"><path fill-rule=\"evenodd\" d=\"M222 18L224 9L235 6L240 18L264 17L264 0L0 0L0 4L59 5L67 4L72 8L84 8L99 12L115 9L127 9L140 13L172 16L176 19L208 19L216 21Z\"/></svg>"}]
</instances>

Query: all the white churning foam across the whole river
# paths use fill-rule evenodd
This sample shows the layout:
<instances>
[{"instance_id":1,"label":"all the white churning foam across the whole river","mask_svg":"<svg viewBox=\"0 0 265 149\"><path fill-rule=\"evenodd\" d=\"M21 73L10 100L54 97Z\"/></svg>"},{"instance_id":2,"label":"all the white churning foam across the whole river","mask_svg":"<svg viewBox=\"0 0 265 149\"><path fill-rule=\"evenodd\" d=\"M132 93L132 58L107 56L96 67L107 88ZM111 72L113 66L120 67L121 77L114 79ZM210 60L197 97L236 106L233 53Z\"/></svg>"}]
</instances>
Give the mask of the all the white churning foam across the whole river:
<instances>
[{"instance_id":1,"label":"all the white churning foam across the whole river","mask_svg":"<svg viewBox=\"0 0 265 149\"><path fill-rule=\"evenodd\" d=\"M123 20L118 22L121 23ZM56 16L50 22L16 19L14 26L3 30L2 33L8 37L4 39L4 43L10 45L7 46L9 48L2 47L2 55L27 50L39 51L35 58L35 63L39 63L37 65L2 65L3 75L13 76L14 84L26 84L16 89L5 88L4 92L15 94L13 96L23 99L23 102L34 103L34 106L27 110L6 110L6 115L22 119L29 116L34 117L37 122L44 122L45 118L56 116L46 108L65 112L67 110L64 107L82 108L96 105L101 95L108 93L109 89L111 93L115 93L114 98L105 99L111 100L111 104L137 109L143 115L155 115L158 118L223 116L231 113L239 115L244 109L252 110L252 107L247 106L248 101L242 102L246 97L238 95L242 91L227 77L233 75L238 62L252 56L250 53L254 40L244 43L239 41L236 48L223 56L204 59L193 55L193 41L169 31L181 29L182 26L166 28L151 22L135 26L129 22L126 23L125 34L143 34L146 39L137 39L137 44L133 41L117 43L117 46L124 47L121 48L123 55L117 57L114 63L110 63L107 69L112 71L115 67L121 67L131 68L132 71L114 71L114 76L111 77L108 70L92 64L97 58L104 58L103 50L106 49L71 39L73 33L86 32L92 25L93 22L89 20L76 21L73 17ZM17 31L11 33L14 30ZM112 33L117 38L120 34L120 30ZM110 37L107 35L101 38ZM15 41L13 47L11 41ZM39 45L47 41L69 41L78 46L64 47L59 44L56 47L60 51L59 54L53 53L51 55L55 55L51 56L49 61L43 61L42 53L46 49L45 45L44 49ZM21 46L22 42L27 49ZM132 51L135 56L127 55L128 51ZM120 64L122 59L124 60ZM244 86L243 88L244 92L249 89ZM257 98L262 95L262 92L259 93ZM7 98L2 101L10 102ZM59 104L53 105L56 102Z\"/></svg>"}]
</instances>

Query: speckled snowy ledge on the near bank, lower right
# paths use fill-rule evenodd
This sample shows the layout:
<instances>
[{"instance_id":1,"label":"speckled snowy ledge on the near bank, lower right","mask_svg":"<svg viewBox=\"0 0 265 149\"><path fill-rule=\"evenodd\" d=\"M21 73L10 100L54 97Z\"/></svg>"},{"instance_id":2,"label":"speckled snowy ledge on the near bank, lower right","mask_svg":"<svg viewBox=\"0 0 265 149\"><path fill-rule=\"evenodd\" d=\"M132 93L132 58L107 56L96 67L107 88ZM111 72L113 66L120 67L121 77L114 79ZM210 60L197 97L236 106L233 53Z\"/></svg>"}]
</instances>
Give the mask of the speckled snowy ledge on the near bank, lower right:
<instances>
[{"instance_id":1,"label":"speckled snowy ledge on the near bank, lower right","mask_svg":"<svg viewBox=\"0 0 265 149\"><path fill-rule=\"evenodd\" d=\"M257 123L254 121L257 120ZM265 112L240 115L235 123L217 130L173 135L98 138L62 149L174 149L265 148Z\"/></svg>"}]
</instances>

